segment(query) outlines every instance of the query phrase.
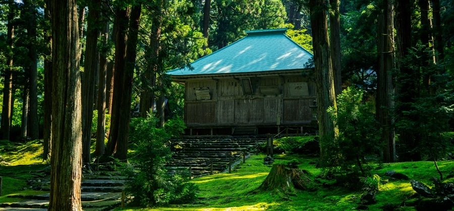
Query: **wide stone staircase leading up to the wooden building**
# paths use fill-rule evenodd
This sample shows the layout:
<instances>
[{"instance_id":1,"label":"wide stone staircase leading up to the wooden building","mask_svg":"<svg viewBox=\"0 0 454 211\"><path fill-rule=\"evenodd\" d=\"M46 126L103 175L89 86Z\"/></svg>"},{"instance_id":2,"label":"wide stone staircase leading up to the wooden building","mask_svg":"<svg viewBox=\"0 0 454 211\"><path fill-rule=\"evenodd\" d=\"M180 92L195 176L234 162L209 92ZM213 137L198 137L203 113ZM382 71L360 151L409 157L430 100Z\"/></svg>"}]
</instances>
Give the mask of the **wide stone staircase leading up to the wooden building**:
<instances>
[{"instance_id":1,"label":"wide stone staircase leading up to the wooden building","mask_svg":"<svg viewBox=\"0 0 454 211\"><path fill-rule=\"evenodd\" d=\"M266 138L256 136L223 138L181 138L172 140L172 160L166 165L169 173L184 173L191 168L192 176L223 172L242 161L243 154L256 151Z\"/></svg>"}]
</instances>

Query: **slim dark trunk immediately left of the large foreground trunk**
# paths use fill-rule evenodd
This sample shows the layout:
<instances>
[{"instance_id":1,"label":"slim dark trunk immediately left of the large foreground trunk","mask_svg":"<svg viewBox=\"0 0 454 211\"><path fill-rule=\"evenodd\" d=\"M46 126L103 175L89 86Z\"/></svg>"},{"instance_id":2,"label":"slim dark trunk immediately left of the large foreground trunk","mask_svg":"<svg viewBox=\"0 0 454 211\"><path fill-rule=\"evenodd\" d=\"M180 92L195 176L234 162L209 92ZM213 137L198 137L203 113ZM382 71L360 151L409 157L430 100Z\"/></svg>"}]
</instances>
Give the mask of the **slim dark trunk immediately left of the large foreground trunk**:
<instances>
[{"instance_id":1,"label":"slim dark trunk immediately left of the large foreground trunk","mask_svg":"<svg viewBox=\"0 0 454 211\"><path fill-rule=\"evenodd\" d=\"M50 2L46 0L44 9L44 18L46 23L50 23ZM50 28L50 26L49 26ZM47 28L46 28L47 29ZM51 32L44 32L45 40L49 45L52 45ZM51 125L52 125L52 49L51 46L45 49L44 53L44 127L43 127L43 153L42 159L50 159L51 153Z\"/></svg>"}]
</instances>

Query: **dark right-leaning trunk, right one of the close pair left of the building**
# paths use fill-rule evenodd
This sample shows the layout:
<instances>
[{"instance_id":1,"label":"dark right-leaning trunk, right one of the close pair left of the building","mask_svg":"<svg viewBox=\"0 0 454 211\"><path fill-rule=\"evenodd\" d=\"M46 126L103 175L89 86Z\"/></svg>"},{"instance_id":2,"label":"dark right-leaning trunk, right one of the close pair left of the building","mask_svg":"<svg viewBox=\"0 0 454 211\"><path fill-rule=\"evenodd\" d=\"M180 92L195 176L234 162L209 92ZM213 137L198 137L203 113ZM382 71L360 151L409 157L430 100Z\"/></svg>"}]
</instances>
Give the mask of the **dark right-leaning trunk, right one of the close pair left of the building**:
<instances>
[{"instance_id":1,"label":"dark right-leaning trunk, right one of the close pair left of the building","mask_svg":"<svg viewBox=\"0 0 454 211\"><path fill-rule=\"evenodd\" d=\"M134 67L136 63L136 46L138 40L138 30L140 23L140 13L142 11L142 5L136 5L131 10L128 41L126 48L126 62L125 70L123 74L123 88L121 90L113 90L121 92L121 101L119 112L119 123L118 131L114 131L117 134L117 151L115 152L115 158L126 161L128 158L128 135L129 135L129 123L130 123L130 112L131 112L131 96L132 86L134 78Z\"/></svg>"}]
</instances>

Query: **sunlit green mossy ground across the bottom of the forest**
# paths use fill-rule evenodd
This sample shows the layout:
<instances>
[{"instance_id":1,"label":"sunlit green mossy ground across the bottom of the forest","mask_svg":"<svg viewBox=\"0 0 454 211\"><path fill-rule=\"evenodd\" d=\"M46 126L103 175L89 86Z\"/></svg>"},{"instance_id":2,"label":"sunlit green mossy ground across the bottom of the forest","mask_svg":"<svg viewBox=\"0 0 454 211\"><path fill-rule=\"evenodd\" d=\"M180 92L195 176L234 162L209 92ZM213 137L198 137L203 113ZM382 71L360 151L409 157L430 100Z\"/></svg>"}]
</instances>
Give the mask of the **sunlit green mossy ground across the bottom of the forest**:
<instances>
[{"instance_id":1,"label":"sunlit green mossy ground across the bottom of the forest","mask_svg":"<svg viewBox=\"0 0 454 211\"><path fill-rule=\"evenodd\" d=\"M42 194L32 190L27 180L48 171L49 164L42 163L40 142L11 143L0 141L0 176L3 176L3 189L0 203L14 202L20 198L11 197L17 194ZM191 204L168 205L155 208L125 207L115 210L352 210L359 209L362 190L334 184L335 180L317 178L323 169L316 168L317 157L299 154L275 154L275 164L287 164L293 159L300 161L298 167L310 172L310 177L322 184L312 192L303 190L291 191L257 191L257 188L268 175L271 165L264 165L264 154L252 155L246 163L238 165L232 173L219 173L193 179L200 191L198 200ZM454 171L454 161L440 161L438 166L446 177ZM430 180L439 177L434 163L429 161L405 162L369 165L373 174L387 179L380 184L376 193L377 203L368 205L369 210L382 210L392 206L395 210L416 210L414 206L403 206L414 202L418 195L410 180L418 180L432 188ZM386 171L394 170L403 173L409 179L392 179L385 176ZM453 183L454 178L442 182ZM397 208L399 207L399 208ZM0 208L1 210L2 208ZM93 209L96 210L96 209Z\"/></svg>"}]
</instances>

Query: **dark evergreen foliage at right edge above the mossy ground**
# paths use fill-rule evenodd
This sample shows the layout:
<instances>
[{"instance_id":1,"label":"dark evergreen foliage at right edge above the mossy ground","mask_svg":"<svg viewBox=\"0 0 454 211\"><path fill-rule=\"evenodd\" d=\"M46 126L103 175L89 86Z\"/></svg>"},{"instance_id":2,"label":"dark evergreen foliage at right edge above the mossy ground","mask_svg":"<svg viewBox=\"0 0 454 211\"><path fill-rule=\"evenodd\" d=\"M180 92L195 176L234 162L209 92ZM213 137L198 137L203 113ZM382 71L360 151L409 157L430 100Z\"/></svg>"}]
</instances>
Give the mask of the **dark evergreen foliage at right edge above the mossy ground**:
<instances>
[{"instance_id":1,"label":"dark evergreen foliage at right edge above the mossy ground","mask_svg":"<svg viewBox=\"0 0 454 211\"><path fill-rule=\"evenodd\" d=\"M396 77L405 84L416 81L417 90L412 100L396 96L395 125L396 132L409 134L414 140L412 144L402 143L398 153L420 153L423 159L437 160L450 146L444 134L451 130L449 121L454 114L454 75L444 71L443 63L434 64L431 55L430 48L418 44L401 60L413 74L396 72Z\"/></svg>"}]
</instances>

